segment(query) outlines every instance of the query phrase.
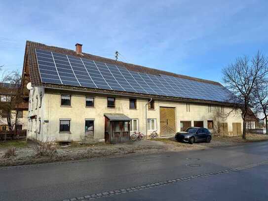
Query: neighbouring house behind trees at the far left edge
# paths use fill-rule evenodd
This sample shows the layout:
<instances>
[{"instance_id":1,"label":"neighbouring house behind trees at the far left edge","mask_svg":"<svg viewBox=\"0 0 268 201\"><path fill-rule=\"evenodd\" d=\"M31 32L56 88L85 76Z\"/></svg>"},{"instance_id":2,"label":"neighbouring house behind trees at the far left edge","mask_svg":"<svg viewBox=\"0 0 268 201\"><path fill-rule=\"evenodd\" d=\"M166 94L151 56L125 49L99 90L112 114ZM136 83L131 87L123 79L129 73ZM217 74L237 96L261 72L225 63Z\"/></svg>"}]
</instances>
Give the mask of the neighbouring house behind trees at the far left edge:
<instances>
[{"instance_id":1,"label":"neighbouring house behind trees at the far left edge","mask_svg":"<svg viewBox=\"0 0 268 201\"><path fill-rule=\"evenodd\" d=\"M6 83L6 82L0 82L0 104L10 102L11 97L14 96L15 90L18 90L19 86L16 86L16 84L13 83ZM17 122L17 129L23 130L27 129L28 126L28 103L27 102L21 102L17 105L16 108L14 108L14 111L11 112L11 124L15 124L15 114L18 110L18 122ZM1 111L0 112L0 131L8 130L8 124L6 119L6 114Z\"/></svg>"}]
</instances>

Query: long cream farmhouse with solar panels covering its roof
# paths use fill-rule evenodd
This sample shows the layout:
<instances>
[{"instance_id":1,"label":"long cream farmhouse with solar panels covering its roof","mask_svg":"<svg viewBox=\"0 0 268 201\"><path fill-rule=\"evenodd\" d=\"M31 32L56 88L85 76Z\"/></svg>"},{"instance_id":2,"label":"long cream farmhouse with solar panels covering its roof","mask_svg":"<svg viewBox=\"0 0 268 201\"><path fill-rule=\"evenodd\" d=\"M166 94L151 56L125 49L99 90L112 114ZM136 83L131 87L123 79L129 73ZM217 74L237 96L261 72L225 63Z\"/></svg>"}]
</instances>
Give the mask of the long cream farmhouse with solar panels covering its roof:
<instances>
[{"instance_id":1,"label":"long cream farmhouse with solar panels covering its roof","mask_svg":"<svg viewBox=\"0 0 268 201\"><path fill-rule=\"evenodd\" d=\"M241 112L219 82L94 56L80 44L73 51L27 41L22 78L23 89L31 82L31 139L122 142L133 131L166 137L216 123L224 135L242 132Z\"/></svg>"}]
</instances>

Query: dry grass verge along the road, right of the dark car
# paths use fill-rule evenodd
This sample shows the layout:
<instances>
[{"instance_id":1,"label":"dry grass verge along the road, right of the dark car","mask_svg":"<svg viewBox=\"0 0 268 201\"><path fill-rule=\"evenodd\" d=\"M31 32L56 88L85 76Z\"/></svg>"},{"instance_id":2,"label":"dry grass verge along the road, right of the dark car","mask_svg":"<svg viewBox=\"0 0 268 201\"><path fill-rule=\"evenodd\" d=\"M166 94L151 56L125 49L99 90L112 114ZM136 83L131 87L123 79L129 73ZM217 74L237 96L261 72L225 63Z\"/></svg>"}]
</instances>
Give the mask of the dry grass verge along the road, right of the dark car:
<instances>
[{"instance_id":1,"label":"dry grass verge along the road, right of the dark car","mask_svg":"<svg viewBox=\"0 0 268 201\"><path fill-rule=\"evenodd\" d=\"M220 142L236 142L236 143L262 142L268 140L268 135L246 134L246 139L243 139L242 136L234 136L234 137L213 136L212 140Z\"/></svg>"}]
</instances>

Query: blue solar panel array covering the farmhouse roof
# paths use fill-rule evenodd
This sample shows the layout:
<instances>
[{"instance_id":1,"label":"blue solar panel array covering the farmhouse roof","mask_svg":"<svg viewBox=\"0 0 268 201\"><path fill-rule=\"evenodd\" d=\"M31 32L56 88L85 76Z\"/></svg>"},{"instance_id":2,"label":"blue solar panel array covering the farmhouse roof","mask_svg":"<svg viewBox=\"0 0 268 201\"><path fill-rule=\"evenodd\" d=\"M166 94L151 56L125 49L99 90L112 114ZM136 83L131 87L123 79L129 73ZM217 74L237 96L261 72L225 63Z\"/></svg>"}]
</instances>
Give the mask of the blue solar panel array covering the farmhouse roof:
<instances>
[{"instance_id":1,"label":"blue solar panel array covering the farmhouse roof","mask_svg":"<svg viewBox=\"0 0 268 201\"><path fill-rule=\"evenodd\" d=\"M222 102L229 97L229 92L220 85L129 71L125 67L41 49L36 49L36 54L42 83Z\"/></svg>"}]
</instances>

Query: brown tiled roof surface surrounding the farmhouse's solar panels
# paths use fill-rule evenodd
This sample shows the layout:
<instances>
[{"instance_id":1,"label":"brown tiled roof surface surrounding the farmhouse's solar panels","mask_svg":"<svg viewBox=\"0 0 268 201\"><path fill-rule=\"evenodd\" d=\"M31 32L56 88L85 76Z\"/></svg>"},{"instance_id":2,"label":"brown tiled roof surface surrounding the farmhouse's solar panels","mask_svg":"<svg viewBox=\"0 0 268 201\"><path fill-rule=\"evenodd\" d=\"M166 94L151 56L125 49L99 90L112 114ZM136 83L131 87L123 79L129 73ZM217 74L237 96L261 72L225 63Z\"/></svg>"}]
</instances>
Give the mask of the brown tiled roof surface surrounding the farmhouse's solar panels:
<instances>
[{"instance_id":1,"label":"brown tiled roof surface surrounding the farmhouse's solar panels","mask_svg":"<svg viewBox=\"0 0 268 201\"><path fill-rule=\"evenodd\" d=\"M150 95L150 94L139 94L139 93L133 93L133 92L126 92L126 91L111 91L111 90L106 90L106 89L99 89L99 88L85 88L85 87L80 87L80 86L67 86L67 85L59 85L59 84L48 84L48 83L42 83L38 71L38 61L36 57L36 49L41 49L41 50L46 50L46 51L52 51L56 53L62 53L66 55L71 55L71 56L76 56L76 57L81 57L85 59L91 59L99 62L104 62L107 64L114 64L118 66L123 66L127 68L129 71L135 71L135 72L140 72L140 73L147 73L151 75L166 75L166 76L172 76L176 78L182 78L182 79L188 79L188 80L194 80L198 82L203 82L203 83L209 83L209 84L214 84L218 86L222 86L219 82L211 81L211 80L203 80L203 79L198 79L198 78L192 78L189 76L183 76L183 75L178 75L166 71L161 71L161 70L156 70L144 66L139 66L139 65L134 65L134 64L129 64L129 63L124 63L121 61L115 61L112 59L100 57L100 56L95 56L91 54L87 54L82 52L81 54L77 54L76 51L70 50L70 49L65 49L65 48L60 48L60 47L55 47L55 46L48 46L45 44L41 44L38 42L32 42L32 41L27 41L26 42L26 52L25 52L25 61L24 61L24 69L26 66L29 67L29 74L30 74L30 80L32 82L32 86L42 86L42 87L47 87L47 88L58 88L58 89L67 89L67 90L77 90L77 91L91 91L91 92L96 92L96 93L109 93L109 94L117 94L117 95L129 95L129 96L142 96L142 97L152 97L152 98L161 98L161 99L172 99L172 100L180 100L180 101L191 101L191 102L200 102L200 103L210 103L210 104L229 104L230 103L223 103L223 102L218 102L218 101L210 101L210 100L198 100L198 99L191 99L191 98L180 98L180 97L168 97L168 96L160 96L160 95Z\"/></svg>"}]
</instances>

